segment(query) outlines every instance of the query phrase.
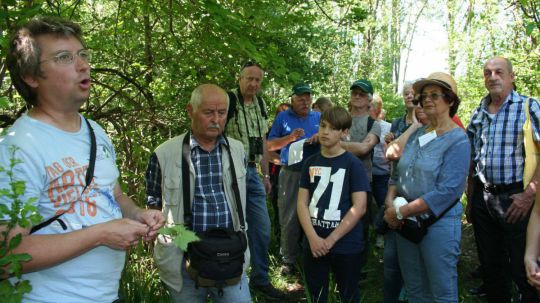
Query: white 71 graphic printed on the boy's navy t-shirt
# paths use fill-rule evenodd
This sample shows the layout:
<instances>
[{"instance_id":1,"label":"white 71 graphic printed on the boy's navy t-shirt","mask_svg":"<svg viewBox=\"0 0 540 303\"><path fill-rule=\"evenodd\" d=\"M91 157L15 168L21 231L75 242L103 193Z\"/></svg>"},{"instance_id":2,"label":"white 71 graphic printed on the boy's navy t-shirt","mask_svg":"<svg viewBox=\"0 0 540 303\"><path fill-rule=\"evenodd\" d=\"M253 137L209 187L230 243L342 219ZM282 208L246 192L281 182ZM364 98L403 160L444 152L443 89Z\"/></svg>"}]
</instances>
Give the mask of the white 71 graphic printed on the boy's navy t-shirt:
<instances>
[{"instance_id":1,"label":"white 71 graphic printed on the boy's navy t-shirt","mask_svg":"<svg viewBox=\"0 0 540 303\"><path fill-rule=\"evenodd\" d=\"M332 174L331 167L311 166L309 167L311 183L315 183L315 177L320 177L320 179L309 202L312 224L323 228L335 228L341 221L341 211L338 207L345 180L345 169L340 168ZM319 203L322 202L321 197L329 185L332 185L330 197L327 199L329 202ZM319 213L322 213L322 218Z\"/></svg>"}]
</instances>

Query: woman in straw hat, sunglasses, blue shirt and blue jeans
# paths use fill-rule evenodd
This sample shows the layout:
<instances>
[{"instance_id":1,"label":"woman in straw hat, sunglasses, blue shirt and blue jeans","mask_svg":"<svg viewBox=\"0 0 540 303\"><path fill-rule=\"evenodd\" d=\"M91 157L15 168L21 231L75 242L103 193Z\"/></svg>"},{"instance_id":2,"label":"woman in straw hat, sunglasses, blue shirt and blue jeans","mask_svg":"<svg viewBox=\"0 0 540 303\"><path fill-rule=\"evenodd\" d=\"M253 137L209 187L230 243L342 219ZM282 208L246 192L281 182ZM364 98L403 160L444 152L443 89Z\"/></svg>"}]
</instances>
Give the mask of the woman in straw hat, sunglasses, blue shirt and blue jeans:
<instances>
[{"instance_id":1,"label":"woman in straw hat, sunglasses, blue shirt and blue jeans","mask_svg":"<svg viewBox=\"0 0 540 303\"><path fill-rule=\"evenodd\" d=\"M404 220L439 217L420 243L397 236L409 302L458 302L457 262L461 241L461 197L469 169L470 144L453 117L460 100L452 76L433 73L413 85L429 118L413 123L389 149L400 159L386 197L385 220L400 229ZM394 207L396 197L408 203ZM458 201L459 202L459 201Z\"/></svg>"}]
</instances>

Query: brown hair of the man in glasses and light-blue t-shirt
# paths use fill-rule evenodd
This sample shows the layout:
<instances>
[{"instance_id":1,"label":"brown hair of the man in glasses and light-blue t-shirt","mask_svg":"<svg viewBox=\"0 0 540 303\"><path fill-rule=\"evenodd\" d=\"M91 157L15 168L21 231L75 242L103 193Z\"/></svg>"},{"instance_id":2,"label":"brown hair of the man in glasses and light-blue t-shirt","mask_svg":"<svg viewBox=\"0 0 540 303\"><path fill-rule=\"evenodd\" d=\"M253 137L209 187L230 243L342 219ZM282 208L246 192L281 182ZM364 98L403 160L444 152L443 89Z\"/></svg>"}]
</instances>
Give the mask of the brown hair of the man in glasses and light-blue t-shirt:
<instances>
[{"instance_id":1,"label":"brown hair of the man in glasses and light-blue t-shirt","mask_svg":"<svg viewBox=\"0 0 540 303\"><path fill-rule=\"evenodd\" d=\"M36 41L43 35L75 37L84 46L79 25L58 17L35 17L15 31L9 41L7 67L13 85L30 105L36 105L36 93L23 79L43 76L39 62L41 47Z\"/></svg>"}]
</instances>

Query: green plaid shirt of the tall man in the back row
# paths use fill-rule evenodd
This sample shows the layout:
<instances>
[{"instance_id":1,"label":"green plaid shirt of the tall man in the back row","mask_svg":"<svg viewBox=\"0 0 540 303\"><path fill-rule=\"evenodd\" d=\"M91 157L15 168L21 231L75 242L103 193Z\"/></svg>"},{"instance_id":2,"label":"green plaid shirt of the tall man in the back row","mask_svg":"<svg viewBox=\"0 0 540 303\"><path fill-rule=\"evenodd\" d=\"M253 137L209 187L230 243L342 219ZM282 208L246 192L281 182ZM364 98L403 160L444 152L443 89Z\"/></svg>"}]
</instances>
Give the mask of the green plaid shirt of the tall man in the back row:
<instances>
[{"instance_id":1,"label":"green plaid shirt of the tall man in the back row","mask_svg":"<svg viewBox=\"0 0 540 303\"><path fill-rule=\"evenodd\" d=\"M261 109L259 108L259 100L257 99L257 96L253 96L253 102L250 104L244 104L244 106L242 106L242 104L240 104L240 99L238 98L238 89L235 89L232 92L237 96L236 114L227 123L227 137L234 138L242 142L244 145L244 150L246 151L246 157L249 157L249 137L264 138L268 130L268 124L262 115ZM244 115L246 115L245 119ZM248 123L247 126L246 120ZM261 161L261 157L262 155L257 155L254 161L259 163ZM248 160L253 161L252 159Z\"/></svg>"}]
</instances>

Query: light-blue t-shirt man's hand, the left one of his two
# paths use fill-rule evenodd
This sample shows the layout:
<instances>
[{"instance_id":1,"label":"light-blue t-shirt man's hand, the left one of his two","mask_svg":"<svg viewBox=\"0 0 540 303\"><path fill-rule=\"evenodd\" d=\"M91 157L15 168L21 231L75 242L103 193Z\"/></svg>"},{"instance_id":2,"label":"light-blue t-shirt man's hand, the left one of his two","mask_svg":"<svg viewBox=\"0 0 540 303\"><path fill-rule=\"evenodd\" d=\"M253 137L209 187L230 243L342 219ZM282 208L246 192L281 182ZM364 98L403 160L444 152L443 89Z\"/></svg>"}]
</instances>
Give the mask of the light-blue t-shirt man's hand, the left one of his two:
<instances>
[{"instance_id":1,"label":"light-blue t-shirt man's hand, the left one of his two","mask_svg":"<svg viewBox=\"0 0 540 303\"><path fill-rule=\"evenodd\" d=\"M131 246L137 245L139 240L146 236L150 230L147 225L126 218L95 226L101 229L99 232L102 236L99 245L120 250L127 250Z\"/></svg>"}]
</instances>

